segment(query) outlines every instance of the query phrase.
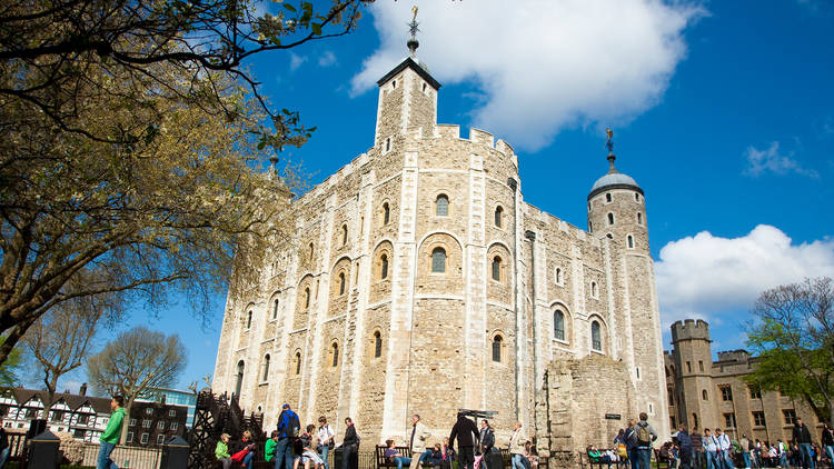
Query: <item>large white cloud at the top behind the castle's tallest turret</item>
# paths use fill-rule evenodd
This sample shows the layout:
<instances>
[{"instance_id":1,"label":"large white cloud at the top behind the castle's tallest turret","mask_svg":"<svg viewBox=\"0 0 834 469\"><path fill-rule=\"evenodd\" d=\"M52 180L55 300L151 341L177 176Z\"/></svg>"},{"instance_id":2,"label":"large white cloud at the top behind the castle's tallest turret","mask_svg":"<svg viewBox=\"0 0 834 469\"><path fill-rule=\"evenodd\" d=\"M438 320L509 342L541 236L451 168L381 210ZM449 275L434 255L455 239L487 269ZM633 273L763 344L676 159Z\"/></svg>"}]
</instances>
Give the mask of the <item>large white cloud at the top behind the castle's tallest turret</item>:
<instances>
[{"instance_id":1,"label":"large white cloud at the top behind the castle's tallest turret","mask_svg":"<svg viewBox=\"0 0 834 469\"><path fill-rule=\"evenodd\" d=\"M474 124L529 150L567 126L623 122L654 106L685 57L683 30L704 13L688 0L418 3L420 60L443 83L474 82ZM371 7L380 47L354 94L407 54L410 6Z\"/></svg>"}]
</instances>

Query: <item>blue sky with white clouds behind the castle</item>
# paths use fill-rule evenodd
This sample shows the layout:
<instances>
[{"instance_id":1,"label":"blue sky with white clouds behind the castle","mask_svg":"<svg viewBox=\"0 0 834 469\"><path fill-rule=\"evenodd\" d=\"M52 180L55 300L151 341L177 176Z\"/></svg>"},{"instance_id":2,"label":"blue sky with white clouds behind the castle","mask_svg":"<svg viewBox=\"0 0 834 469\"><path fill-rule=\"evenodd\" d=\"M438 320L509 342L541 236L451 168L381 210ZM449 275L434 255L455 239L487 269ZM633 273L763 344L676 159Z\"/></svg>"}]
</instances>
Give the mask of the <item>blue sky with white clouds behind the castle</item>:
<instances>
[{"instance_id":1,"label":"blue sky with white clouds behind the castle","mask_svg":"<svg viewBox=\"0 0 834 469\"><path fill-rule=\"evenodd\" d=\"M378 0L356 33L251 63L277 107L318 127L287 156L311 183L373 144L373 83L407 53L411 4ZM834 276L834 3L417 4L418 57L444 84L438 121L513 144L528 202L586 228L614 129L617 167L646 193L666 342L672 321L697 317L714 350L741 348L759 291ZM224 303L208 329L186 302L159 319L137 309L123 328L179 333L183 388L214 370Z\"/></svg>"}]
</instances>

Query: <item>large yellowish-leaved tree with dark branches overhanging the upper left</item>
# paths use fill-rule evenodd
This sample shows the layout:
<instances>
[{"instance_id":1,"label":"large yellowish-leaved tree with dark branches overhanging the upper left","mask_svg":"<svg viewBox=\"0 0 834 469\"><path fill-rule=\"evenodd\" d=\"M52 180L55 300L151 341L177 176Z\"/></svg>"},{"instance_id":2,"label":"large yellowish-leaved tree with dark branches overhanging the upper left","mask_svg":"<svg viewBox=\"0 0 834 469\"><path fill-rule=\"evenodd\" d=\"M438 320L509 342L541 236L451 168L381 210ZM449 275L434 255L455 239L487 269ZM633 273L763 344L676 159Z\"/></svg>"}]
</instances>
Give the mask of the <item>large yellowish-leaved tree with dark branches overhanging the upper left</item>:
<instances>
[{"instance_id":1,"label":"large yellowish-leaved tree with dark branches overhanging the upper left","mask_svg":"<svg viewBox=\"0 0 834 469\"><path fill-rule=\"evenodd\" d=\"M365 2L3 2L0 363L64 301L125 292L159 310L177 289L206 312L254 282L298 188L291 167L264 172L270 151L314 129L274 111L245 61L347 33Z\"/></svg>"}]
</instances>

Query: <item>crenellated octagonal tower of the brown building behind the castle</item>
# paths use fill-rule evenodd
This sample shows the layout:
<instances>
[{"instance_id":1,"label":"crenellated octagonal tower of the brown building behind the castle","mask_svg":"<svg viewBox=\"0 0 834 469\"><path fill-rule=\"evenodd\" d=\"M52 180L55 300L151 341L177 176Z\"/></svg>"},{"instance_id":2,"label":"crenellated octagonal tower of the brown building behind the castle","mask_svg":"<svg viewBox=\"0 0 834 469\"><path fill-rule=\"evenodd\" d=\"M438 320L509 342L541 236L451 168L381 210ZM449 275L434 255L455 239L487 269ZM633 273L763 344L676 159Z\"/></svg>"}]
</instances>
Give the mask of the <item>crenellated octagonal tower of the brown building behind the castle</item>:
<instances>
[{"instance_id":1,"label":"crenellated octagonal tower of the brown building behind the castle","mask_svg":"<svg viewBox=\"0 0 834 469\"><path fill-rule=\"evenodd\" d=\"M675 369L675 408L677 421L689 428L713 428L716 396L713 396L713 351L709 346L709 325L687 319L672 325L672 359ZM682 399L686 396L686 399Z\"/></svg>"}]
</instances>

